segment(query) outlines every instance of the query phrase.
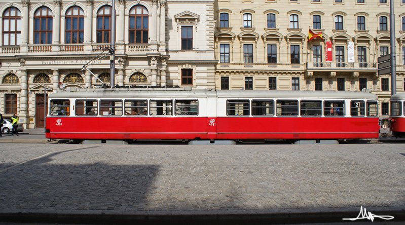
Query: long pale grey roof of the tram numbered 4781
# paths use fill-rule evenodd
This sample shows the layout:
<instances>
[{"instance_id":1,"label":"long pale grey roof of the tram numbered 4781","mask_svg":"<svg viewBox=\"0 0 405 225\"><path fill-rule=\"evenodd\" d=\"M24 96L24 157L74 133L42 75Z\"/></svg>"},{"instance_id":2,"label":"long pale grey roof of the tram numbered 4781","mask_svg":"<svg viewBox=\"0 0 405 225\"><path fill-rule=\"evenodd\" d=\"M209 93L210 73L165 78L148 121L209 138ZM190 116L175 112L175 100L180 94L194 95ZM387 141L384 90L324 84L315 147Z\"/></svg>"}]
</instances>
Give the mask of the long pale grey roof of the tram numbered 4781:
<instances>
[{"instance_id":1,"label":"long pale grey roof of the tram numbered 4781","mask_svg":"<svg viewBox=\"0 0 405 225\"><path fill-rule=\"evenodd\" d=\"M271 91L271 90L128 90L128 89L79 89L52 93L49 98L162 98L207 97L223 98L349 98L378 99L377 95L349 91ZM401 93L403 94L403 93ZM402 95L405 97L405 95ZM403 97L402 97L403 98Z\"/></svg>"}]
</instances>

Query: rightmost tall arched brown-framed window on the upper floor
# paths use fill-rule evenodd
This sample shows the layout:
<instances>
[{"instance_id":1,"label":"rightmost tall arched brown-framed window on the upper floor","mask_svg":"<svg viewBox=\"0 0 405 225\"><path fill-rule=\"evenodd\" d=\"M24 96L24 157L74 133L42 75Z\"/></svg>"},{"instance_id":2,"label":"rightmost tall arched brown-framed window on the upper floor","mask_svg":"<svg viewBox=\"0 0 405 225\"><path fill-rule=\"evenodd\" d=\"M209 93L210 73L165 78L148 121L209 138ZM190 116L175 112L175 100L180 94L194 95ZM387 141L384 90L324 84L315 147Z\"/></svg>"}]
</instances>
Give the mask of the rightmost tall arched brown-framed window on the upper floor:
<instances>
[{"instance_id":1,"label":"rightmost tall arched brown-framed window on the upper floor","mask_svg":"<svg viewBox=\"0 0 405 225\"><path fill-rule=\"evenodd\" d=\"M129 11L129 43L148 44L148 10L141 5Z\"/></svg>"}]
</instances>

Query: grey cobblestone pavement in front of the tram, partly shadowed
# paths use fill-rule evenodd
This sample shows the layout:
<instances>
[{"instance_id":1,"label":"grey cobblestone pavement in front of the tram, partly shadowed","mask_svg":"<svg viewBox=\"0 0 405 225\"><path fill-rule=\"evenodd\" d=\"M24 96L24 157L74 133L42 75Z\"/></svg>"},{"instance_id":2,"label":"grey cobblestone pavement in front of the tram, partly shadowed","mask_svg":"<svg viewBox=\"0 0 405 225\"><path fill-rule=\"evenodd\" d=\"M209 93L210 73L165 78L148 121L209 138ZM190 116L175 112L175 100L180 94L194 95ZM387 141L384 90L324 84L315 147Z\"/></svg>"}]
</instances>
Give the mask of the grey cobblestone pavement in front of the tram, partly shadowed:
<instances>
[{"instance_id":1,"label":"grey cobblestone pavement in front of the tram, partly shadowed","mask_svg":"<svg viewBox=\"0 0 405 225\"><path fill-rule=\"evenodd\" d=\"M404 146L0 143L0 212L403 208Z\"/></svg>"}]
</instances>

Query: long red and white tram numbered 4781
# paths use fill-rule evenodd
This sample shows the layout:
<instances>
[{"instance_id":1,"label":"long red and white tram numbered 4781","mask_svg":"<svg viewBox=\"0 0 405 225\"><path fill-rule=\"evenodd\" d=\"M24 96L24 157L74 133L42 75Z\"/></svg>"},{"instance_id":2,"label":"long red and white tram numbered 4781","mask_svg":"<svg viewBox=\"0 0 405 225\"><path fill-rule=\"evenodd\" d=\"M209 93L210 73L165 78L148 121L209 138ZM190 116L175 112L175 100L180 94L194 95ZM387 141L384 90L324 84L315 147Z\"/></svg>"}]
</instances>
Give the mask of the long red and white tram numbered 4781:
<instances>
[{"instance_id":1,"label":"long red and white tram numbered 4781","mask_svg":"<svg viewBox=\"0 0 405 225\"><path fill-rule=\"evenodd\" d=\"M363 92L84 89L51 94L48 105L46 137L54 139L357 139L379 134L377 96Z\"/></svg>"}]
</instances>

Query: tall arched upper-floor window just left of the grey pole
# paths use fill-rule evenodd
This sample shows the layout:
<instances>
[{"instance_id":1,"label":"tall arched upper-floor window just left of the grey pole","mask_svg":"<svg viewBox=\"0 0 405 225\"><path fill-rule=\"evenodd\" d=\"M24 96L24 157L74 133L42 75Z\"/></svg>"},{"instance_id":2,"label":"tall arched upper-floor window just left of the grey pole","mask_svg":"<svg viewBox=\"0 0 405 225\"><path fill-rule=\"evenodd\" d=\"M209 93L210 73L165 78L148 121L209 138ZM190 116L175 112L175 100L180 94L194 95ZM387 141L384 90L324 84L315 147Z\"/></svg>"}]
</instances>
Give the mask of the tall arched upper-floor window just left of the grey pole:
<instances>
[{"instance_id":1,"label":"tall arched upper-floor window just left of the grey pole","mask_svg":"<svg viewBox=\"0 0 405 225\"><path fill-rule=\"evenodd\" d=\"M111 6L103 6L97 12L97 43L109 43Z\"/></svg>"}]
</instances>

